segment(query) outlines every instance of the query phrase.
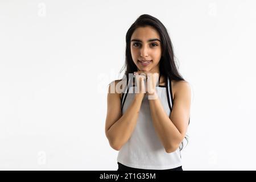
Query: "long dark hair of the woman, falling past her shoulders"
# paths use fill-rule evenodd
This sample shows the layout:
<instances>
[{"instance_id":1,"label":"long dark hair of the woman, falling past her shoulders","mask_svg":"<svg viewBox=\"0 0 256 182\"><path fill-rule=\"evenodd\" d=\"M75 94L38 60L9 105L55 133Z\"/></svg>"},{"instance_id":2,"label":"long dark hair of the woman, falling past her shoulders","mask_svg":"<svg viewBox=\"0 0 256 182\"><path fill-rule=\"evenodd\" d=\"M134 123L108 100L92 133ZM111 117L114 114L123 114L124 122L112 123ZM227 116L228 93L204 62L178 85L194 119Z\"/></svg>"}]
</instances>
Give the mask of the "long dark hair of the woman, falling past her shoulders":
<instances>
[{"instance_id":1,"label":"long dark hair of the woman, falling past her shoulders","mask_svg":"<svg viewBox=\"0 0 256 182\"><path fill-rule=\"evenodd\" d=\"M120 72L122 72L123 69L126 68L126 78L129 78L129 73L137 72L137 66L135 65L131 57L131 35L133 35L133 32L136 30L136 28L146 26L151 26L155 28L155 30L158 31L158 34L160 36L162 49L162 56L159 61L160 75L164 76L165 78L169 77L171 80L184 81L184 78L177 71L177 67L174 61L174 50L172 48L172 42L170 36L168 35L166 27L164 27L163 23L160 22L159 19L148 14L143 14L139 16L139 18L135 20L135 22L131 25L131 27L126 33L125 65ZM165 82L167 85L167 79L165 79ZM185 139L188 141L187 136L185 137ZM183 142L181 142L180 150L182 150L182 148Z\"/></svg>"}]
</instances>

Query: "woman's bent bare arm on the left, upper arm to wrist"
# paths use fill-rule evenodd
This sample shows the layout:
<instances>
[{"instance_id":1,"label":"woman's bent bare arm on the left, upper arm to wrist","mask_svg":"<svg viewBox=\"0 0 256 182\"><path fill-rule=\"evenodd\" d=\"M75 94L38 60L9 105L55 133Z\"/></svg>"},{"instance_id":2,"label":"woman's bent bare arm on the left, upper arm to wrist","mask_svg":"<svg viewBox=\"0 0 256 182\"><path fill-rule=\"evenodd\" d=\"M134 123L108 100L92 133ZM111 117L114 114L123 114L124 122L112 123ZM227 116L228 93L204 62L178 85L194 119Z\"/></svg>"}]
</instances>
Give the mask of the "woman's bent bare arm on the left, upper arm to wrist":
<instances>
[{"instance_id":1,"label":"woman's bent bare arm on the left, upper arm to wrist","mask_svg":"<svg viewBox=\"0 0 256 182\"><path fill-rule=\"evenodd\" d=\"M120 150L129 140L137 123L144 94L135 94L133 102L122 115L121 99L118 93L108 93L108 110L105 134L114 150Z\"/></svg>"}]
</instances>

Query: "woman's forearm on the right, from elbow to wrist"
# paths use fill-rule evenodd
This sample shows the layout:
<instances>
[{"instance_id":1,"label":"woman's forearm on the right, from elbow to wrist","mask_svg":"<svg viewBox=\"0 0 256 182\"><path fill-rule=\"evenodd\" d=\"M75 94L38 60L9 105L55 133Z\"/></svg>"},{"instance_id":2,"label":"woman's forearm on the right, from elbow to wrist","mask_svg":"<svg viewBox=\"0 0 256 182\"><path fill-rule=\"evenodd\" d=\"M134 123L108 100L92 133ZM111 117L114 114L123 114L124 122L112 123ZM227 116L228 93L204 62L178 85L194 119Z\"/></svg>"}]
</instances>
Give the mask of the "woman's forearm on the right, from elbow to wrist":
<instances>
[{"instance_id":1,"label":"woman's forearm on the right, from elbow to wrist","mask_svg":"<svg viewBox=\"0 0 256 182\"><path fill-rule=\"evenodd\" d=\"M174 123L172 123L171 119L166 114L166 111L164 111L158 97L148 101L156 133L158 134L166 151L174 151L182 140L179 130Z\"/></svg>"}]
</instances>

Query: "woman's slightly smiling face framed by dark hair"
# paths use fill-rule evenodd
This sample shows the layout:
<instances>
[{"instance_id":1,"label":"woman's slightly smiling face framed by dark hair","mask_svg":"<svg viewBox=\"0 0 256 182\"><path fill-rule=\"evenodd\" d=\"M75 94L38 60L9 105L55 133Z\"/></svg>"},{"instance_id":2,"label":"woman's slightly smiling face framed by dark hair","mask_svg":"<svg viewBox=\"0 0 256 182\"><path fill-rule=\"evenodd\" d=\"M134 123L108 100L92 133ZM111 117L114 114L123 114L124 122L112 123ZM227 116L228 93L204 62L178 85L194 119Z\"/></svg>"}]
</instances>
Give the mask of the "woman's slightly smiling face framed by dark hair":
<instances>
[{"instance_id":1,"label":"woman's slightly smiling face framed by dark hair","mask_svg":"<svg viewBox=\"0 0 256 182\"><path fill-rule=\"evenodd\" d=\"M162 55L160 36L150 27L139 27L131 35L131 57L138 71L159 73L159 61Z\"/></svg>"}]
</instances>

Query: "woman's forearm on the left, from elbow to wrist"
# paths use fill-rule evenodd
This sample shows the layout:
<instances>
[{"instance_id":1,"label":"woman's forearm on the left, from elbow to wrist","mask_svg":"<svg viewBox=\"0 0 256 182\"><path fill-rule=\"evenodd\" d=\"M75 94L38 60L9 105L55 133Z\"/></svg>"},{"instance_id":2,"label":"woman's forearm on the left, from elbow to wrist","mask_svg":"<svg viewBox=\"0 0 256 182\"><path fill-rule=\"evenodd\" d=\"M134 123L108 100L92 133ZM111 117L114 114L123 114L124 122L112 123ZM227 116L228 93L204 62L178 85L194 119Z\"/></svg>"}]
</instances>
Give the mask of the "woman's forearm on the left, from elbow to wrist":
<instances>
[{"instance_id":1,"label":"woman's forearm on the left, from elbow to wrist","mask_svg":"<svg viewBox=\"0 0 256 182\"><path fill-rule=\"evenodd\" d=\"M119 150L129 140L137 123L139 110L141 109L143 97L134 97L133 102L125 113L108 130L110 146Z\"/></svg>"}]
</instances>

